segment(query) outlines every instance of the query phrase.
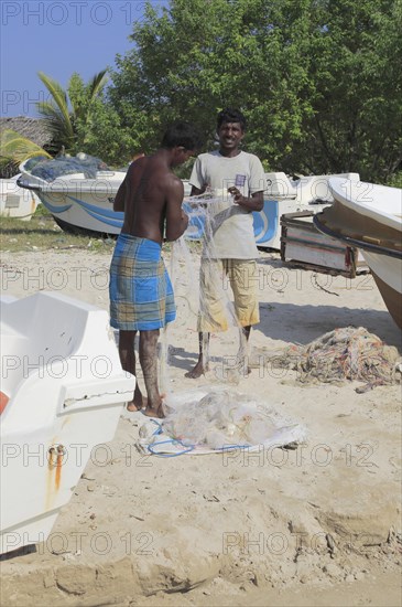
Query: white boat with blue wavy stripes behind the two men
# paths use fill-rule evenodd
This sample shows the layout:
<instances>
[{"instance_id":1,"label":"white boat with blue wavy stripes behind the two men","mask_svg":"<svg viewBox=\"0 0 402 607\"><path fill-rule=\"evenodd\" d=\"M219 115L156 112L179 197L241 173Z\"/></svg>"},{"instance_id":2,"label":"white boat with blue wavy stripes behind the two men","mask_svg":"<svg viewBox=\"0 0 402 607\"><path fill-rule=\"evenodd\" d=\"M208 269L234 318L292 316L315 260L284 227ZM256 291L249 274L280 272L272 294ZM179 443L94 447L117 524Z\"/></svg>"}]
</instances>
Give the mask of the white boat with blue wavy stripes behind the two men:
<instances>
[{"instance_id":1,"label":"white boat with blue wavy stripes behind the two men","mask_svg":"<svg viewBox=\"0 0 402 607\"><path fill-rule=\"evenodd\" d=\"M19 185L34 191L55 222L67 232L98 236L117 236L122 227L123 213L113 211L113 200L126 177L126 170L113 171L101 160L80 153L77 157L53 160L29 159L20 166ZM256 243L259 247L281 248L281 216L308 209L318 212L334 199L328 187L333 175L309 175L291 179L283 172L265 173L264 205L253 212ZM359 180L357 173L337 177ZM185 236L202 239L205 216L194 213L186 202L191 194L188 181L183 180L183 210L189 222Z\"/></svg>"}]
</instances>

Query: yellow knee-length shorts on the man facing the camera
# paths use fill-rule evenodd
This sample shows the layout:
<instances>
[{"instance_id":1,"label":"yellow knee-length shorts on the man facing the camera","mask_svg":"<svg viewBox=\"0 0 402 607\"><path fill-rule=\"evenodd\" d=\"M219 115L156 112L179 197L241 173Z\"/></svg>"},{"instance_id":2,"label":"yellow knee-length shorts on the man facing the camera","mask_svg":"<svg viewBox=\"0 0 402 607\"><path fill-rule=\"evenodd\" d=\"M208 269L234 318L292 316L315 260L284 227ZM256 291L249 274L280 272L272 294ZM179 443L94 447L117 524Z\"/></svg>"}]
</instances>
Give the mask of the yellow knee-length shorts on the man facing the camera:
<instances>
[{"instance_id":1,"label":"yellow knee-length shorts on the man facing the camera","mask_svg":"<svg viewBox=\"0 0 402 607\"><path fill-rule=\"evenodd\" d=\"M227 331L260 322L258 266L253 259L202 259L198 331ZM230 299L229 285L233 292ZM231 317L231 318L230 318Z\"/></svg>"}]
</instances>

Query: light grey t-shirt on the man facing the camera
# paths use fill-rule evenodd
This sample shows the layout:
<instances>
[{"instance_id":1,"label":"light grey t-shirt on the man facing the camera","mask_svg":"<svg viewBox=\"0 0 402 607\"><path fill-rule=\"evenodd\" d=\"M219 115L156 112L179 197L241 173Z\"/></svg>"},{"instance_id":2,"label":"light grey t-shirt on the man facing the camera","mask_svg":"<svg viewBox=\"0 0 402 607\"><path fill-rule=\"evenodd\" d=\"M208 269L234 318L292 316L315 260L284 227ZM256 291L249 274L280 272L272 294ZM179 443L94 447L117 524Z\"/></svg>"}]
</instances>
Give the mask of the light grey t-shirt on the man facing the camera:
<instances>
[{"instance_id":1,"label":"light grey t-shirt on the man facing the camera","mask_svg":"<svg viewBox=\"0 0 402 607\"><path fill-rule=\"evenodd\" d=\"M208 185L222 200L214 216L214 243L209 255L256 259L259 254L252 213L233 203L228 188L236 185L243 196L265 189L264 171L257 156L245 151L233 158L221 156L219 151L202 153L195 161L189 183L198 189Z\"/></svg>"}]
</instances>

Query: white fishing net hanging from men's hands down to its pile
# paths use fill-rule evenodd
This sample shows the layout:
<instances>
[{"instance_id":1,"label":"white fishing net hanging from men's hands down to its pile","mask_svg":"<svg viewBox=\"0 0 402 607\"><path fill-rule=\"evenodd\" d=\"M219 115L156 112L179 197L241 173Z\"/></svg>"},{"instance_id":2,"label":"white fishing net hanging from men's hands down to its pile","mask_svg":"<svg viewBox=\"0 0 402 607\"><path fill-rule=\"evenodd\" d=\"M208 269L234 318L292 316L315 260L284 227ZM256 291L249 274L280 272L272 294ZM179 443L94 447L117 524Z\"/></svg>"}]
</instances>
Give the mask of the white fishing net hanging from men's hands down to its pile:
<instances>
[{"instance_id":1,"label":"white fishing net hanging from men's hands down to its pile","mask_svg":"<svg viewBox=\"0 0 402 607\"><path fill-rule=\"evenodd\" d=\"M189 214L189 233L202 226L203 241L195 255L211 260L217 257L214 234L226 217L238 212L231 196L207 193L200 196L187 198L185 212ZM173 244L170 275L173 283L177 319L175 328L194 331L198 313L204 313L203 289L200 288L198 265L195 264L185 237ZM230 349L225 348L228 331L219 333L220 351L232 354L239 361L238 366L230 365L230 373L224 364L216 366L216 385L180 393L171 393L166 375L167 361L171 360L169 331L162 338L163 369L160 377L163 380L164 397L163 420L144 423L140 428L139 447L154 455L182 455L185 452L206 454L219 452L231 448L251 448L261 446L285 446L298 444L306 438L306 429L295 420L284 418L273 407L269 407L257 396L238 393L229 387L233 381L232 373L238 379L245 376L247 342L235 313L232 292L228 288L226 277L216 280L217 297L224 302L230 331L238 336L231 337ZM224 344L224 347L222 347ZM182 349L183 350L183 349ZM208 362L207 342L204 342L204 361ZM185 355L187 352L184 352ZM225 358L225 356L224 356ZM220 369L220 376L218 376Z\"/></svg>"}]
</instances>

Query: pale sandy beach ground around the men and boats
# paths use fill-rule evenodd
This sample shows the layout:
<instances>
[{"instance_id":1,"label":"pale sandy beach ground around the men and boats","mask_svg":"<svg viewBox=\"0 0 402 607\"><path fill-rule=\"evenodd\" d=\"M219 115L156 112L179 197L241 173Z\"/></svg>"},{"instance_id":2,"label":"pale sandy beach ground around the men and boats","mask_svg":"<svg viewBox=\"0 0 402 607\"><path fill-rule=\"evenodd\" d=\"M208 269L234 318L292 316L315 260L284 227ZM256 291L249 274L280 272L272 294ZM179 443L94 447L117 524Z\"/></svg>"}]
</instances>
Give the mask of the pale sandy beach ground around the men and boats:
<instances>
[{"instance_id":1,"label":"pale sandy beach ground around the men and boats","mask_svg":"<svg viewBox=\"0 0 402 607\"><path fill-rule=\"evenodd\" d=\"M196 253L192 260L197 269ZM57 290L108 309L109 262L85 249L4 253L2 292ZM161 387L224 384L253 394L303 424L305 443L161 458L135 448L143 415L123 412L48 540L2 561L1 605L401 604L401 385L357 393L361 382L301 383L296 371L267 364L274 351L349 326L401 353L400 331L371 275L290 268L267 252L259 267L251 373L222 372L237 353L237 332L228 331L211 339L210 371L184 376L197 359L194 274L161 340L170 352Z\"/></svg>"}]
</instances>

